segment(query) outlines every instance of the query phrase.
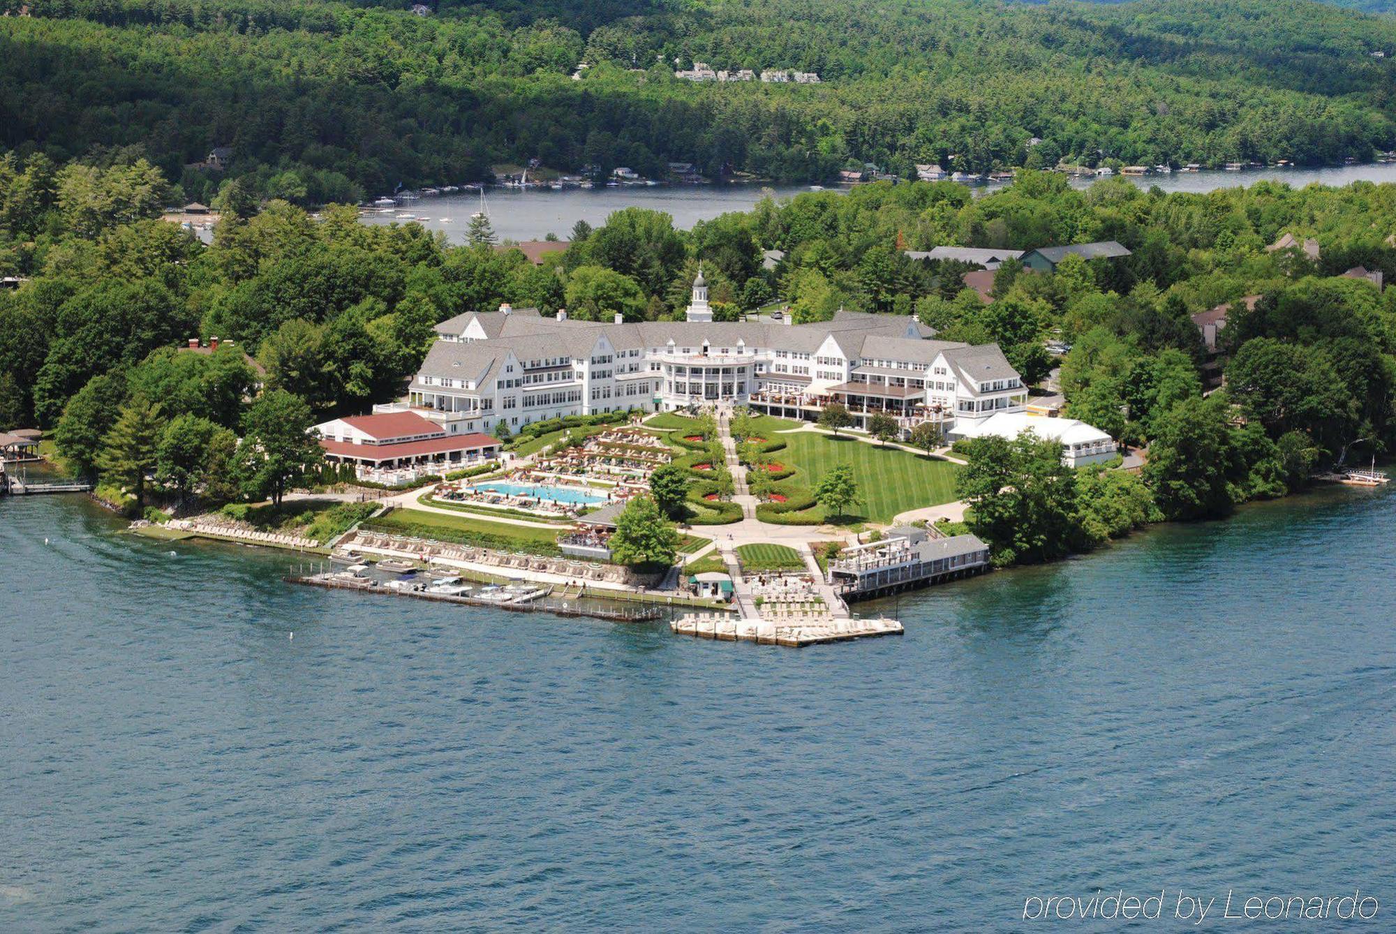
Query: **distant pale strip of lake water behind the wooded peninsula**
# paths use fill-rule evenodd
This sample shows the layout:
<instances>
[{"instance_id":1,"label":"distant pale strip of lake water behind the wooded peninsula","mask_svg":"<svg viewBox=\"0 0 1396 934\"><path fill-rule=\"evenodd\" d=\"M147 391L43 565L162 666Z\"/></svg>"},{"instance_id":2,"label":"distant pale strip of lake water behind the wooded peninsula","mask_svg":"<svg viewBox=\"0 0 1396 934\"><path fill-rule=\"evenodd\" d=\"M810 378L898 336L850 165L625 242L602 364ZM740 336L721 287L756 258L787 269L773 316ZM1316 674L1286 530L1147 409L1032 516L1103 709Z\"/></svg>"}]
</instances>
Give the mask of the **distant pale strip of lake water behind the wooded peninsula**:
<instances>
[{"instance_id":1,"label":"distant pale strip of lake water behind the wooded peninsula","mask_svg":"<svg viewBox=\"0 0 1396 934\"><path fill-rule=\"evenodd\" d=\"M1318 181L1321 184L1350 184L1353 181L1396 181L1396 163L1353 165L1330 169L1256 169L1248 172L1174 172L1131 177L1135 184L1148 188L1159 186L1164 191L1212 191L1238 184L1254 184L1262 179L1287 181L1302 187ZM1086 187L1092 179L1074 179L1074 187ZM1002 186L980 186L976 191L995 191ZM831 186L829 191L847 191ZM623 186L617 188L489 188L484 193L484 207L490 215L494 233L505 240L542 240L554 233L563 240L571 236L577 221L586 221L593 228L606 223L613 211L641 207L666 211L674 218L674 226L692 228L698 221L711 221L730 211L750 211L766 195L792 198L810 186L759 186L759 184L708 184L708 186ZM479 193L461 193L426 197L403 202L396 212L412 212L424 216L422 226L429 230L444 230L452 243L463 243L470 215L480 209ZM392 215L370 214L367 223L399 222Z\"/></svg>"}]
</instances>

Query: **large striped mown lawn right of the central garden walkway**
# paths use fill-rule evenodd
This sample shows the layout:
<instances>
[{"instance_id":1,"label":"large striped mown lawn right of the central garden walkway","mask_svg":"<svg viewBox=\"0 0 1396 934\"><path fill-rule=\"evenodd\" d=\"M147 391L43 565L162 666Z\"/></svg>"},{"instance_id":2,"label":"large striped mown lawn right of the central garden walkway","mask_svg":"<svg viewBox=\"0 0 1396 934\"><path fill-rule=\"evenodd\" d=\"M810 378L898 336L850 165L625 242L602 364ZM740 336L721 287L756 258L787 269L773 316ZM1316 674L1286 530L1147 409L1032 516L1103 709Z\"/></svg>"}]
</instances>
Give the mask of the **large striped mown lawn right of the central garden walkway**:
<instances>
[{"instance_id":1,"label":"large striped mown lawn right of the central garden walkway","mask_svg":"<svg viewBox=\"0 0 1396 934\"><path fill-rule=\"evenodd\" d=\"M796 468L793 482L811 490L833 465L853 465L861 501L849 511L868 521L891 522L898 512L955 501L959 465L949 461L811 431L785 440L786 448L771 458Z\"/></svg>"}]
</instances>

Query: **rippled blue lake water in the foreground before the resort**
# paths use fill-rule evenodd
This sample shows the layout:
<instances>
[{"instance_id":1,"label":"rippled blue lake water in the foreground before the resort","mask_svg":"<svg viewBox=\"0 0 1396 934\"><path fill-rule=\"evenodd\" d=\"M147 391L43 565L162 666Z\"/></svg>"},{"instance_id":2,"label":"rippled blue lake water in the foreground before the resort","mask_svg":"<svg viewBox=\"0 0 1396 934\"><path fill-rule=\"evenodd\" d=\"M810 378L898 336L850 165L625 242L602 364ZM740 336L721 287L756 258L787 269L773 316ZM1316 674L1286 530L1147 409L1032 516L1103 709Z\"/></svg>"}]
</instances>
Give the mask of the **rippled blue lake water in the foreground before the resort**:
<instances>
[{"instance_id":1,"label":"rippled blue lake water in the foreground before the resort","mask_svg":"<svg viewBox=\"0 0 1396 934\"><path fill-rule=\"evenodd\" d=\"M1180 887L1213 917L1360 888L1396 927L1392 493L801 651L120 526L0 500L0 930L1020 930L1029 896Z\"/></svg>"}]
</instances>

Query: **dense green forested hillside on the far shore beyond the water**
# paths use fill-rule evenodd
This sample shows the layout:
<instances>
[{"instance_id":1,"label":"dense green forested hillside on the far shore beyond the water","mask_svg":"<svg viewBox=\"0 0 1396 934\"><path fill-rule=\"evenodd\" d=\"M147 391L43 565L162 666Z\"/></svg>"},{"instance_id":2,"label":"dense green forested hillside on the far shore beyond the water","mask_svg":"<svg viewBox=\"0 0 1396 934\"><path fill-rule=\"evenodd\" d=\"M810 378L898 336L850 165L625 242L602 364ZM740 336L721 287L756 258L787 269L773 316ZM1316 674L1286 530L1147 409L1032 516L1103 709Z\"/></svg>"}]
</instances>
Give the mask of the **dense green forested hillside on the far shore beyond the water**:
<instances>
[{"instance_id":1,"label":"dense green forested hillside on the far shore beyond the water","mask_svg":"<svg viewBox=\"0 0 1396 934\"><path fill-rule=\"evenodd\" d=\"M1396 20L1304 0L24 6L0 17L0 147L144 155L204 202L229 177L352 202L530 158L815 181L861 162L910 176L1396 148ZM673 77L694 60L822 82ZM184 170L214 147L226 173Z\"/></svg>"}]
</instances>

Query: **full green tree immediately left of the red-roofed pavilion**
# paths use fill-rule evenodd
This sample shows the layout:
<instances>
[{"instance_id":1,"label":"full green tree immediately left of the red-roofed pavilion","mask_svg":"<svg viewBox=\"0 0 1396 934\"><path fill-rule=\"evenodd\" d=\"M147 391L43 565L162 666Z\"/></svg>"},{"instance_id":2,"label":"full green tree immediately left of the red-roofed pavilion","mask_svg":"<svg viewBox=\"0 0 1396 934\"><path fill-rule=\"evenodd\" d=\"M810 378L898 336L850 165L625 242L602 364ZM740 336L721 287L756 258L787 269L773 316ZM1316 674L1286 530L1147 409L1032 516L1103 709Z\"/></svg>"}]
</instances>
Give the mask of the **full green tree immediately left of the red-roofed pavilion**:
<instances>
[{"instance_id":1,"label":"full green tree immediately left of the red-roofed pavilion","mask_svg":"<svg viewBox=\"0 0 1396 934\"><path fill-rule=\"evenodd\" d=\"M240 466L243 490L251 497L271 497L281 505L286 490L320 466L324 452L310 433L310 406L285 390L264 392L243 419Z\"/></svg>"}]
</instances>

